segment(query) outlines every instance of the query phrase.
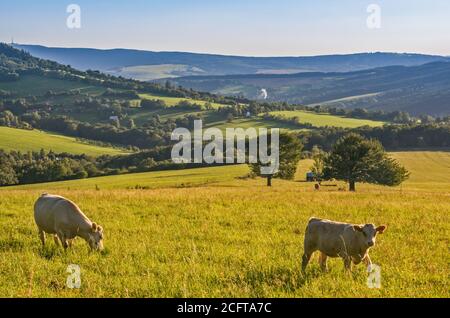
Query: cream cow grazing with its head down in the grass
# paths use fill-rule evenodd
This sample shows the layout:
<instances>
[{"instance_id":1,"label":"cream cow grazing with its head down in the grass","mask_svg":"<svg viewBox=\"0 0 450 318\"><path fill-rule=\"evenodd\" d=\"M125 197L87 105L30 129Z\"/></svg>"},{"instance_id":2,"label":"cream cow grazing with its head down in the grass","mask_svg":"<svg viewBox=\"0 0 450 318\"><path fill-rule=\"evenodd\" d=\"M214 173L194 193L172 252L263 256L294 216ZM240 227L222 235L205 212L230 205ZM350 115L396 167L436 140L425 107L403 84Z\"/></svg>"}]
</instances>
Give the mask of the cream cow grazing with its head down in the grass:
<instances>
[{"instance_id":1,"label":"cream cow grazing with its head down in the grass","mask_svg":"<svg viewBox=\"0 0 450 318\"><path fill-rule=\"evenodd\" d=\"M45 233L54 234L57 244L66 249L72 239L82 237L93 250L103 249L103 228L91 222L80 208L58 195L43 194L34 204L34 220L42 245Z\"/></svg>"}]
</instances>

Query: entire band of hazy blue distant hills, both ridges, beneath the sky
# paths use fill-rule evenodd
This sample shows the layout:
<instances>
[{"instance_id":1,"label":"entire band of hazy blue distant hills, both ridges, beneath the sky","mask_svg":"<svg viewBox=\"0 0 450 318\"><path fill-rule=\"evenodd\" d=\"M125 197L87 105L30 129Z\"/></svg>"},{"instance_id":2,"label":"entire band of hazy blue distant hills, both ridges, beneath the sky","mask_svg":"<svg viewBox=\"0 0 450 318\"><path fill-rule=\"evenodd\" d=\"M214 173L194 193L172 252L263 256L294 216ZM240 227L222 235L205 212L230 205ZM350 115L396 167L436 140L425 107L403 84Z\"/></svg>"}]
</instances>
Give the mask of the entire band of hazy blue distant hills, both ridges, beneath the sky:
<instances>
[{"instance_id":1,"label":"entire band of hazy blue distant hills, both ridges, beneath the sky","mask_svg":"<svg viewBox=\"0 0 450 318\"><path fill-rule=\"evenodd\" d=\"M260 58L18 44L15 47L77 69L96 69L140 80L159 78L160 83L170 78L175 85L220 95L260 99L264 90L267 101L402 110L413 115L450 113L450 58L443 56L361 53Z\"/></svg>"}]
</instances>

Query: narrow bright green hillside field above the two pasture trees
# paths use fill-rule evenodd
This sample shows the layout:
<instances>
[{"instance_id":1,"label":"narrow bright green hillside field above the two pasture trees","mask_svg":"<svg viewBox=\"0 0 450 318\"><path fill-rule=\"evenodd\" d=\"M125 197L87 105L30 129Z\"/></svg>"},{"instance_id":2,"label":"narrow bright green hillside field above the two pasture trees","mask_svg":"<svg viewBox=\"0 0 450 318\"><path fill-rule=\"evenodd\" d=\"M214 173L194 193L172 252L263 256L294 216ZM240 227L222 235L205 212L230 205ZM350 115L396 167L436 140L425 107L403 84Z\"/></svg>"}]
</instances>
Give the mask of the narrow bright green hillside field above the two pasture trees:
<instances>
[{"instance_id":1,"label":"narrow bright green hillside field above the two pasture trees","mask_svg":"<svg viewBox=\"0 0 450 318\"><path fill-rule=\"evenodd\" d=\"M302 124L310 123L314 127L334 126L343 128L357 128L361 126L378 127L383 126L385 123L382 121L356 119L340 117L330 114L317 114L308 111L277 111L271 112L272 115L283 116L286 118L299 117L299 122Z\"/></svg>"}]
</instances>

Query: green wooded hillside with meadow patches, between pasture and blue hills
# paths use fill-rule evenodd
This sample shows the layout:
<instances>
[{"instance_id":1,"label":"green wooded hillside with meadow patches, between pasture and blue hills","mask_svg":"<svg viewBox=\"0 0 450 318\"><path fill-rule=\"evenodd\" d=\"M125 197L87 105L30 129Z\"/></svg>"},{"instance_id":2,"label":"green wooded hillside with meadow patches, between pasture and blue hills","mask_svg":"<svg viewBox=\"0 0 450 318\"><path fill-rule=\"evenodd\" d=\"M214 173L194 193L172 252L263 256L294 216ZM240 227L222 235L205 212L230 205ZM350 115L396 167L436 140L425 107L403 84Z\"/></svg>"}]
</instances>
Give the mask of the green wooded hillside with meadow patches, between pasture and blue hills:
<instances>
[{"instance_id":1,"label":"green wooded hillside with meadow patches, between pasture and blue hills","mask_svg":"<svg viewBox=\"0 0 450 318\"><path fill-rule=\"evenodd\" d=\"M79 71L5 44L0 74L0 126L12 129L18 141L0 142L3 185L199 166L175 165L170 158L173 130L192 129L196 120L222 131L281 128L295 134L306 152L314 146L329 150L350 131L388 149L450 145L449 117L223 97L170 82ZM36 129L44 131L42 151L32 138ZM54 133L71 139L45 143Z\"/></svg>"}]
</instances>

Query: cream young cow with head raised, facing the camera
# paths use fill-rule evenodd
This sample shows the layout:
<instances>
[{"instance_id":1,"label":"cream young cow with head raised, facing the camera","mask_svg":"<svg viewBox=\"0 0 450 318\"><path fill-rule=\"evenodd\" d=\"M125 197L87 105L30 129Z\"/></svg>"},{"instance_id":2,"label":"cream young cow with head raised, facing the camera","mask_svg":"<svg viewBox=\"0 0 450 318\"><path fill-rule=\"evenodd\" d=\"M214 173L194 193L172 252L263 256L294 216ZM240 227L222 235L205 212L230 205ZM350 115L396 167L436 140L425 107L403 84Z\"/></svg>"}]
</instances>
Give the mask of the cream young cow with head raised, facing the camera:
<instances>
[{"instance_id":1,"label":"cream young cow with head raised, facing the camera","mask_svg":"<svg viewBox=\"0 0 450 318\"><path fill-rule=\"evenodd\" d=\"M357 265L364 261L370 266L369 248L375 245L376 234L385 230L385 225L375 227L311 218L305 231L302 271L305 272L315 251L320 251L319 263L323 271L327 270L327 257L341 257L347 270L351 270L352 262Z\"/></svg>"}]
</instances>

